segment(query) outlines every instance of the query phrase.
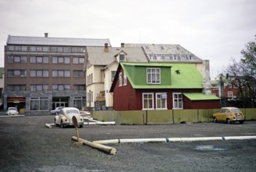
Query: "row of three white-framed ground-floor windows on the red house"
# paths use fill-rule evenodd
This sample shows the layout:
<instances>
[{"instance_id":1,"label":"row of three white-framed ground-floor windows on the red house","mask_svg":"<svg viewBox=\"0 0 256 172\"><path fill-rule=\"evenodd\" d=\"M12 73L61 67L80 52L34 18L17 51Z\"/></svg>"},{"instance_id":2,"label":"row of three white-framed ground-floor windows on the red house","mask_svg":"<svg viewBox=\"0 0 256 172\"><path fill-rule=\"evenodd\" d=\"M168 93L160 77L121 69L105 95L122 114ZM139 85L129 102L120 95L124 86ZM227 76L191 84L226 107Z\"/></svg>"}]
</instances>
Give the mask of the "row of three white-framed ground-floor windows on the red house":
<instances>
[{"instance_id":1,"label":"row of three white-framed ground-floor windows on the red house","mask_svg":"<svg viewBox=\"0 0 256 172\"><path fill-rule=\"evenodd\" d=\"M156 96L156 99L154 99L154 95ZM182 109L182 93L173 93L172 102L173 109ZM168 109L167 93L142 93L142 109Z\"/></svg>"}]
</instances>

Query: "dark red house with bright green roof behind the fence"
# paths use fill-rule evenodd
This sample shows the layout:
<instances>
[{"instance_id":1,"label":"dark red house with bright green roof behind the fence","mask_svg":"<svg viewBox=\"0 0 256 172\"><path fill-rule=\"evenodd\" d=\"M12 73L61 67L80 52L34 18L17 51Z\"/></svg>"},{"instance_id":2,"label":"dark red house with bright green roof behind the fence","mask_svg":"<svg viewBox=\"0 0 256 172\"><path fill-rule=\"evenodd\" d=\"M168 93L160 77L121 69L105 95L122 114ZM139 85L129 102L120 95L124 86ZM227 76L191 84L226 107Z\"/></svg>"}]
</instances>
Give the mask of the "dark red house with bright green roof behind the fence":
<instances>
[{"instance_id":1,"label":"dark red house with bright green roof behind the fence","mask_svg":"<svg viewBox=\"0 0 256 172\"><path fill-rule=\"evenodd\" d=\"M213 109L203 75L192 63L120 63L110 92L114 110Z\"/></svg>"}]
</instances>

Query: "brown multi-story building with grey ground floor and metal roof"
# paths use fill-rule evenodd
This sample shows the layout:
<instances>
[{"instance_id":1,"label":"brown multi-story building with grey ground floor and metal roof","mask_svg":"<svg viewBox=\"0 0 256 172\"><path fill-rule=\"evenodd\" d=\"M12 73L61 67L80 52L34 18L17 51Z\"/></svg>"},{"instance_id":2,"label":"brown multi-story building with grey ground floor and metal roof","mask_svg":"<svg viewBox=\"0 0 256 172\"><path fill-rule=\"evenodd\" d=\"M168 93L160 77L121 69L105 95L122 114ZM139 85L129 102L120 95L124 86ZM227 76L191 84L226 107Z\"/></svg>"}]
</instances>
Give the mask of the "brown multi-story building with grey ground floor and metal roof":
<instances>
[{"instance_id":1,"label":"brown multi-story building with grey ground floor and metal roof","mask_svg":"<svg viewBox=\"0 0 256 172\"><path fill-rule=\"evenodd\" d=\"M49 114L57 106L85 106L87 46L109 39L10 36L5 45L4 109Z\"/></svg>"}]
</instances>

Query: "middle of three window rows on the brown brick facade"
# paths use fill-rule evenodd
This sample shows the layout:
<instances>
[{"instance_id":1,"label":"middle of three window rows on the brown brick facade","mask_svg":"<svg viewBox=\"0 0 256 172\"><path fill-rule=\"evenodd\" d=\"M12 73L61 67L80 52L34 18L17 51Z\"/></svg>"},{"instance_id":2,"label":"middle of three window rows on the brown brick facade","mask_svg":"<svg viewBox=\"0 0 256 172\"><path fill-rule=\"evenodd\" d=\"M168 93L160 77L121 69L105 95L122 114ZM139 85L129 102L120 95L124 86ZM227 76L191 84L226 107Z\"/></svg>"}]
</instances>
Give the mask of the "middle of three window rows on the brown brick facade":
<instances>
[{"instance_id":1,"label":"middle of three window rows on the brown brick facade","mask_svg":"<svg viewBox=\"0 0 256 172\"><path fill-rule=\"evenodd\" d=\"M7 70L8 77L27 77L27 70ZM49 77L49 70L31 70L31 77ZM70 77L70 70L52 70L52 77ZM85 71L74 70L73 77L85 77Z\"/></svg>"}]
</instances>

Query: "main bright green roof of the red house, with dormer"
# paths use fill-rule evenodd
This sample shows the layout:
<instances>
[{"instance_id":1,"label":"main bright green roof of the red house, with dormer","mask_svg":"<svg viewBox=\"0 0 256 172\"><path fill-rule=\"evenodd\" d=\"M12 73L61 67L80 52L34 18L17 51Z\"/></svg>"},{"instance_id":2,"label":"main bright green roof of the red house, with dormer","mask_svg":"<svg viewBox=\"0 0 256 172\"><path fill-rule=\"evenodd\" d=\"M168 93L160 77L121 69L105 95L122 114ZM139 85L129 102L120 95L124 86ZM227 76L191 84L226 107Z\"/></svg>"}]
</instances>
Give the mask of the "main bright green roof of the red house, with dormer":
<instances>
[{"instance_id":1,"label":"main bright green roof of the red house, with dormer","mask_svg":"<svg viewBox=\"0 0 256 172\"><path fill-rule=\"evenodd\" d=\"M203 88L203 76L192 63L121 63L121 66L133 88ZM160 84L146 83L149 67L160 68Z\"/></svg>"}]
</instances>

